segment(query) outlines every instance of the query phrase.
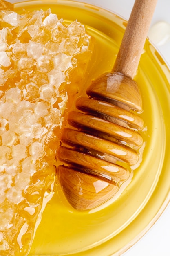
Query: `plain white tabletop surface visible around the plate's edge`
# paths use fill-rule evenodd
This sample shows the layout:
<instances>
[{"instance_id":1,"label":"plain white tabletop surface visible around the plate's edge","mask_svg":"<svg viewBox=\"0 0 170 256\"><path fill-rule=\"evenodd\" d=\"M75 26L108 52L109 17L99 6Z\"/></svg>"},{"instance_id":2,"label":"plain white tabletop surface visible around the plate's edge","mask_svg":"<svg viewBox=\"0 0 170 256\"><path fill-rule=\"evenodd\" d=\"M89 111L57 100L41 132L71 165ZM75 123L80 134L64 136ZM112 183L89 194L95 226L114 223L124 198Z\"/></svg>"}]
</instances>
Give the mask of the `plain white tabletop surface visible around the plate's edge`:
<instances>
[{"instance_id":1,"label":"plain white tabletop surface visible around the plate's edge","mask_svg":"<svg viewBox=\"0 0 170 256\"><path fill-rule=\"evenodd\" d=\"M9 0L19 2L20 0ZM128 19L135 0L79 0L94 4ZM142 0L141 0L142 1ZM152 25L164 21L170 24L170 0L158 0ZM161 46L159 52L170 66L170 39ZM170 205L148 233L122 256L170 256Z\"/></svg>"}]
</instances>

